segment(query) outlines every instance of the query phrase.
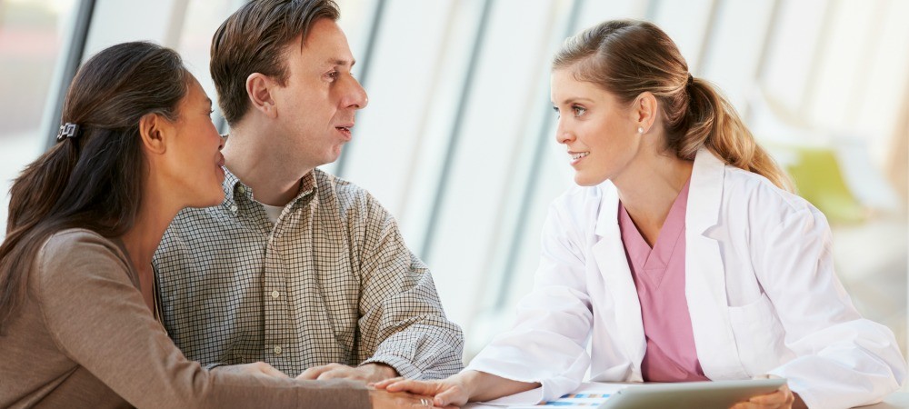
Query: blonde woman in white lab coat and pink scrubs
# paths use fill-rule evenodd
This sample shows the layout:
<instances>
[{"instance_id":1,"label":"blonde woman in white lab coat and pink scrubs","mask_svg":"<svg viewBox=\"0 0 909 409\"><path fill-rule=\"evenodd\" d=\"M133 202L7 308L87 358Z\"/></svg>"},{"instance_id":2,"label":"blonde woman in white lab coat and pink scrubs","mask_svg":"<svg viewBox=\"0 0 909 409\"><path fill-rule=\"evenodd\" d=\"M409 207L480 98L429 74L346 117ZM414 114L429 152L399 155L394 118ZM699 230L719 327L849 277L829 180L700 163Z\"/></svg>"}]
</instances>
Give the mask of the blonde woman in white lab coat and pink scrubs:
<instances>
[{"instance_id":1,"label":"blonde woman in white lab coat and pink scrubs","mask_svg":"<svg viewBox=\"0 0 909 409\"><path fill-rule=\"evenodd\" d=\"M579 186L550 208L517 323L460 374L378 387L443 406L541 385L553 399L588 369L601 382L779 376L735 407L834 408L903 384L893 332L836 278L824 214L662 30L611 21L569 38L552 101Z\"/></svg>"}]
</instances>

